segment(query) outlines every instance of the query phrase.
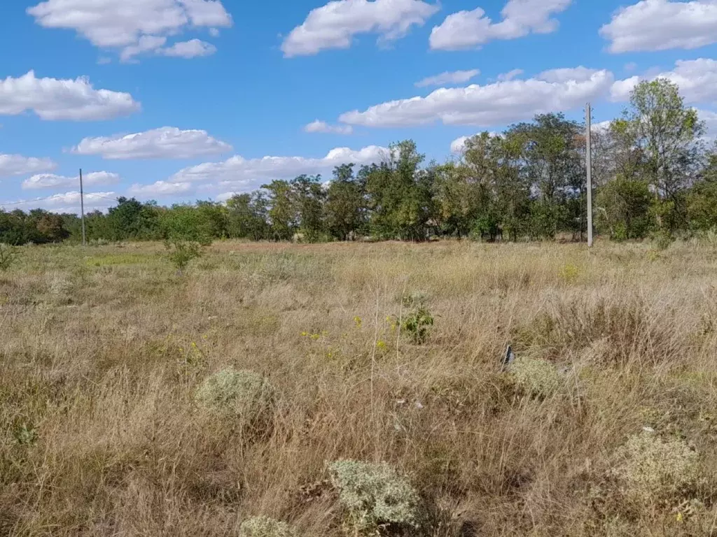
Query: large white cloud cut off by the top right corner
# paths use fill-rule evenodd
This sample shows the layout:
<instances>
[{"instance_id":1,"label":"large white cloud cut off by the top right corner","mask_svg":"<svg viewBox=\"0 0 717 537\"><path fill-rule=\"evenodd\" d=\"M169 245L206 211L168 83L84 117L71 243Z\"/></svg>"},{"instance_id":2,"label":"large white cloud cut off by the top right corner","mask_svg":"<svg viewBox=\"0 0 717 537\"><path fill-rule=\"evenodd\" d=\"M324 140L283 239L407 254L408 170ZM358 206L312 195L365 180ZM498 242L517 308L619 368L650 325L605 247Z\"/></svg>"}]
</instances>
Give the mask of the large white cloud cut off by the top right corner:
<instances>
[{"instance_id":1,"label":"large white cloud cut off by the top right corner","mask_svg":"<svg viewBox=\"0 0 717 537\"><path fill-rule=\"evenodd\" d=\"M717 43L717 1L642 0L602 26L610 52L696 49Z\"/></svg>"}]
</instances>

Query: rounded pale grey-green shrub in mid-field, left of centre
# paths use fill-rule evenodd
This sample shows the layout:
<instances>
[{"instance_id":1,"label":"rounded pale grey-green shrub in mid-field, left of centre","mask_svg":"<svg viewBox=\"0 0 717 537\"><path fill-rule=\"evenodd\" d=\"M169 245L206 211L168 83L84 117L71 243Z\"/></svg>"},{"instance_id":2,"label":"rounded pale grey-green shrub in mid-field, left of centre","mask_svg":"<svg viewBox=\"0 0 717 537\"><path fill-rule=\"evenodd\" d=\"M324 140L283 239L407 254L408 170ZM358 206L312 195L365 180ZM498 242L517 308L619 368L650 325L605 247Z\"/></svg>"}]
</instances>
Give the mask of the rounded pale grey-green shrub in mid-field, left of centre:
<instances>
[{"instance_id":1,"label":"rounded pale grey-green shrub in mid-field, left of centre","mask_svg":"<svg viewBox=\"0 0 717 537\"><path fill-rule=\"evenodd\" d=\"M229 368L207 377L195 399L215 415L255 424L270 415L275 390L261 374Z\"/></svg>"}]
</instances>

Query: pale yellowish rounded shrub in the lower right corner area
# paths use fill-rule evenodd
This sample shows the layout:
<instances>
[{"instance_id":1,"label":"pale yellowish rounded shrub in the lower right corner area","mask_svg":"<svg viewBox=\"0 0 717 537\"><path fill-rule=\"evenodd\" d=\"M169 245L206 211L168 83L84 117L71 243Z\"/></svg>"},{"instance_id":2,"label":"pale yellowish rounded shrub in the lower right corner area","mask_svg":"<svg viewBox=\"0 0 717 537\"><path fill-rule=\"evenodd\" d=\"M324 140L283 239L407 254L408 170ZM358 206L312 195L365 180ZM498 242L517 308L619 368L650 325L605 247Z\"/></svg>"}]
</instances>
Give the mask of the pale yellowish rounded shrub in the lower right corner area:
<instances>
[{"instance_id":1,"label":"pale yellowish rounded shrub in the lower right corner area","mask_svg":"<svg viewBox=\"0 0 717 537\"><path fill-rule=\"evenodd\" d=\"M623 494L642 506L678 500L698 483L698 454L677 438L645 431L630 437L614 459Z\"/></svg>"}]
</instances>

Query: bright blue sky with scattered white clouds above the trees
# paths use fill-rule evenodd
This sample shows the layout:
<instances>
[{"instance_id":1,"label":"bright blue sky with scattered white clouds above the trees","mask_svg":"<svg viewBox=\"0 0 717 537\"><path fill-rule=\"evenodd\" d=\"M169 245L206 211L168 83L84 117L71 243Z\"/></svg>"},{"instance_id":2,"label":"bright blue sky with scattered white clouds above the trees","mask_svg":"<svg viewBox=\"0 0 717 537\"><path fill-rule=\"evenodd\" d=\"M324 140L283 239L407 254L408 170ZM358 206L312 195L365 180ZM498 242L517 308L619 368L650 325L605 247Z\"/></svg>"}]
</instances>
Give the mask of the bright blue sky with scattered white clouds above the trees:
<instances>
[{"instance_id":1,"label":"bright blue sky with scattered white clouds above the trees","mask_svg":"<svg viewBox=\"0 0 717 537\"><path fill-rule=\"evenodd\" d=\"M79 168L106 208L328 176L404 138L444 161L536 112L608 120L658 74L717 132L717 0L11 0L0 47L6 209L77 211Z\"/></svg>"}]
</instances>

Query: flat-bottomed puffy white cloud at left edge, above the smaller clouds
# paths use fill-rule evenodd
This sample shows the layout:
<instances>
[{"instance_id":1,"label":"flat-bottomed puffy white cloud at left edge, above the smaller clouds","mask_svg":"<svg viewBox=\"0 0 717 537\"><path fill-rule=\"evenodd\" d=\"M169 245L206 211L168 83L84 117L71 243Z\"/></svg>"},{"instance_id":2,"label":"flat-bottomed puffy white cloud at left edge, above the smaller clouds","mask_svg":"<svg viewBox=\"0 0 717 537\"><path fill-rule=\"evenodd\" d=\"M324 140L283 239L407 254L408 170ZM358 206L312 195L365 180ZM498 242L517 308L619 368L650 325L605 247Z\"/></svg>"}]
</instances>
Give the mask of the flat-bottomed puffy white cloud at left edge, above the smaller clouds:
<instances>
[{"instance_id":1,"label":"flat-bottomed puffy white cloud at left edge, above the smaller clouds","mask_svg":"<svg viewBox=\"0 0 717 537\"><path fill-rule=\"evenodd\" d=\"M95 89L87 78L22 77L0 79L0 115L32 110L43 120L109 120L140 110L128 93Z\"/></svg>"}]
</instances>

